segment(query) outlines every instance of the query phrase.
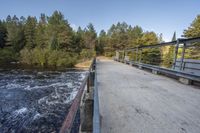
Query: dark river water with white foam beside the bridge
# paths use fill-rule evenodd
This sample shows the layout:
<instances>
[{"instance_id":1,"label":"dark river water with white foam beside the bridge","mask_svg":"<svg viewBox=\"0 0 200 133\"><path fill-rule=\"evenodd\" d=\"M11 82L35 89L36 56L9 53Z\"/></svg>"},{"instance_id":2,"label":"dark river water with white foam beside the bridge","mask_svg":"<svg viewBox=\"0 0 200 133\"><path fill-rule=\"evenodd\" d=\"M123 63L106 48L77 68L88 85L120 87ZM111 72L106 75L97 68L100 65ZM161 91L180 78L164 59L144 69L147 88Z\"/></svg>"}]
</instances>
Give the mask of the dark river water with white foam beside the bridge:
<instances>
[{"instance_id":1,"label":"dark river water with white foam beside the bridge","mask_svg":"<svg viewBox=\"0 0 200 133\"><path fill-rule=\"evenodd\" d=\"M0 70L0 133L59 132L85 75Z\"/></svg>"}]
</instances>

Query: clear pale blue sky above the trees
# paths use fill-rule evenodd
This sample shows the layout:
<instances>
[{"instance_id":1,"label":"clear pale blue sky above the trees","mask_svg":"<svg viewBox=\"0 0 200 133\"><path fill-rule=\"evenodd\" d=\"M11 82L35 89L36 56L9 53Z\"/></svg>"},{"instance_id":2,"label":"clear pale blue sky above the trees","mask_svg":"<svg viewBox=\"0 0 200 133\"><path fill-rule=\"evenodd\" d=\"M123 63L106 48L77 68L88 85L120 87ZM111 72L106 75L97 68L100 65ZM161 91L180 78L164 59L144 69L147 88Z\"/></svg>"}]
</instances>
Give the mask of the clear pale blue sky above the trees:
<instances>
[{"instance_id":1,"label":"clear pale blue sky above the trees","mask_svg":"<svg viewBox=\"0 0 200 133\"><path fill-rule=\"evenodd\" d=\"M113 23L125 21L145 31L163 33L170 41L173 32L181 37L200 14L200 0L0 0L0 19L8 14L36 16L61 11L73 28L93 23L96 31L106 31Z\"/></svg>"}]
</instances>

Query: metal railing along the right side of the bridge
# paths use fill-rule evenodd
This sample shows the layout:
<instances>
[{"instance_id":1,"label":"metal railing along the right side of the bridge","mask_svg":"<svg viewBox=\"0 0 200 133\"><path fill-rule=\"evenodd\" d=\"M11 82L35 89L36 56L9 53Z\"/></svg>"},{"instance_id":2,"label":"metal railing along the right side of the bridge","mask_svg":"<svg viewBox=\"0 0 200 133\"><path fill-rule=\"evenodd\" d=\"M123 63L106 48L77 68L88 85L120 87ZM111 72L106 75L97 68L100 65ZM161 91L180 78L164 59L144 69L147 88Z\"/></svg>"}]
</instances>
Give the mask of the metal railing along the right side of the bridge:
<instances>
[{"instance_id":1,"label":"metal railing along the right side of the bridge","mask_svg":"<svg viewBox=\"0 0 200 133\"><path fill-rule=\"evenodd\" d=\"M154 44L154 45L145 45L145 46L142 45L142 46L138 46L138 47L134 47L134 48L126 48L124 50L116 51L115 60L123 62L123 63L131 64L131 65L135 65L135 66L138 66L139 68L145 68L145 69L149 69L152 71L157 71L158 73L162 73L165 75L171 75L174 77L179 77L179 78L181 77L181 78L189 79L192 81L200 82L200 75L198 74L200 72L200 67L198 65L195 65L195 68L194 68L195 72L184 71L187 69L187 66L185 66L185 65L188 62L184 58L185 50L186 50L186 48L194 47L195 43L197 43L197 42L200 43L200 37L190 38L190 39L178 39L178 40L172 41L172 42L164 42L164 43L159 43L159 44ZM181 48L182 48L182 53L181 53L181 58L178 59L177 55L178 55L178 49L180 47L180 44L181 44ZM175 46L175 49L174 49L173 66L171 69L152 65L152 64L145 64L145 63L141 62L141 55L142 55L143 49L158 48L158 47L173 46L173 45ZM130 61L127 57L127 52L132 52L132 53L135 52L136 53L136 61ZM122 58L119 58L120 53L123 54L121 56ZM200 51L199 51L199 53L200 53ZM195 61L195 63L196 62L198 62L198 64L199 64L199 60ZM177 67L179 69L177 69ZM188 69L191 70L191 69L193 69L193 67L190 67ZM196 71L199 71L199 72L197 73Z\"/></svg>"}]
</instances>

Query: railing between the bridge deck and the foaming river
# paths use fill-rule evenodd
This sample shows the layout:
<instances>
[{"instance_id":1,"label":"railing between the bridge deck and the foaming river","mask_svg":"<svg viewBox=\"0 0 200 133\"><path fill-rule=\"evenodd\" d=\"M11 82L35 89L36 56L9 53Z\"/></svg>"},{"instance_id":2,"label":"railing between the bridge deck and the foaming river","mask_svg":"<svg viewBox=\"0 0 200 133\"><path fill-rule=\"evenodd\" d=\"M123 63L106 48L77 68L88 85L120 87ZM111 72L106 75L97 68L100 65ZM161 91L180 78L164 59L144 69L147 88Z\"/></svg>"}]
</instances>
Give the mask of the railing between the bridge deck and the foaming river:
<instances>
[{"instance_id":1,"label":"railing between the bridge deck and the foaming river","mask_svg":"<svg viewBox=\"0 0 200 133\"><path fill-rule=\"evenodd\" d=\"M72 105L69 109L69 112L62 124L60 133L71 133L71 129L77 114L78 109L80 108L80 103L83 98L84 92L89 91L89 84L91 81L94 81L94 108L93 108L93 132L100 133L100 115L99 115L99 101L98 101L98 89L97 89L97 78L96 78L96 58L93 59L91 66L89 67L89 72L86 74L79 92L77 93L75 99L72 102ZM95 79L91 79L90 73L94 73ZM84 91L87 86L87 91ZM99 124L99 125L98 125Z\"/></svg>"}]
</instances>

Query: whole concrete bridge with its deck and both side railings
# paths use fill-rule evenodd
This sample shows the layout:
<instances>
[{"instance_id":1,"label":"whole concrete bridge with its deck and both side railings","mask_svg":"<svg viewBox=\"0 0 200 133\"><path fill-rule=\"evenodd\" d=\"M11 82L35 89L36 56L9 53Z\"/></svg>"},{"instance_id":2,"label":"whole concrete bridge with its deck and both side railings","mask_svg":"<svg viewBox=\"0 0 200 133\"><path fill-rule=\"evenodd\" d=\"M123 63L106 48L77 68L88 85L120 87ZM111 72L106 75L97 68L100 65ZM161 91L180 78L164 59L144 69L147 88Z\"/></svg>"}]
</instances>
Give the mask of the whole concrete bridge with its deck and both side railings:
<instances>
[{"instance_id":1,"label":"whole concrete bridge with its deck and both side railings","mask_svg":"<svg viewBox=\"0 0 200 133\"><path fill-rule=\"evenodd\" d=\"M196 42L200 38L179 39L94 59L60 132L72 132L80 109L82 133L198 133L200 62L184 58ZM171 68L142 62L143 49L167 45L175 46Z\"/></svg>"}]
</instances>

